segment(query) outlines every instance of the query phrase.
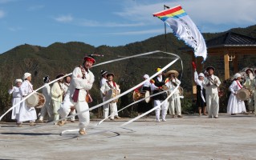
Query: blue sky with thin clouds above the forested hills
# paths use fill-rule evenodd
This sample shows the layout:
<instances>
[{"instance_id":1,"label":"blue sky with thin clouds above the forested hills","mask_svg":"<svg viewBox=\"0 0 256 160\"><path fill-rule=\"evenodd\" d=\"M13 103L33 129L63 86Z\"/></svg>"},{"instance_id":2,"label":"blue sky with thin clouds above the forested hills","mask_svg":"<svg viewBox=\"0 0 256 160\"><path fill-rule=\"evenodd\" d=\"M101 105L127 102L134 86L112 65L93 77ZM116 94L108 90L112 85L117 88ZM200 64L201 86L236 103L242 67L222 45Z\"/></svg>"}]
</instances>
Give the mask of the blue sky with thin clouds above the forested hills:
<instances>
[{"instance_id":1,"label":"blue sky with thin clouds above the forested hills","mask_svg":"<svg viewBox=\"0 0 256 160\"><path fill-rule=\"evenodd\" d=\"M144 41L164 34L164 23L152 17L164 5L181 5L204 33L256 23L255 0L0 0L0 53L24 43Z\"/></svg>"}]
</instances>

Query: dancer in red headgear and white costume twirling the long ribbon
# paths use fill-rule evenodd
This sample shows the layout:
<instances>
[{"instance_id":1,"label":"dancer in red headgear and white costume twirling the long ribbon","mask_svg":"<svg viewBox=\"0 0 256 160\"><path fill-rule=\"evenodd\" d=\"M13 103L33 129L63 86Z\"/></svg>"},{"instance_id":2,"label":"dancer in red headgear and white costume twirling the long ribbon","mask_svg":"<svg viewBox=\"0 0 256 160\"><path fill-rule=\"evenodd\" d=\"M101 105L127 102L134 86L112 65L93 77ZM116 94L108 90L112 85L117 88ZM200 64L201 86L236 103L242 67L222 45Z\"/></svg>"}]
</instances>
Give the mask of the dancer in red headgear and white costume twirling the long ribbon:
<instances>
[{"instance_id":1,"label":"dancer in red headgear and white costume twirling the long ribbon","mask_svg":"<svg viewBox=\"0 0 256 160\"><path fill-rule=\"evenodd\" d=\"M73 70L71 85L68 87L63 104L58 110L61 118L67 117L73 106L75 106L78 113L89 109L86 102L87 90L91 90L95 80L94 75L89 69L95 63L95 58L92 56L85 56L83 60L83 66L77 66L75 67L75 70ZM86 134L85 127L90 122L89 111L84 112L83 114L78 114L78 117L79 134ZM64 124L65 121L58 122L59 126L63 126Z\"/></svg>"}]
</instances>

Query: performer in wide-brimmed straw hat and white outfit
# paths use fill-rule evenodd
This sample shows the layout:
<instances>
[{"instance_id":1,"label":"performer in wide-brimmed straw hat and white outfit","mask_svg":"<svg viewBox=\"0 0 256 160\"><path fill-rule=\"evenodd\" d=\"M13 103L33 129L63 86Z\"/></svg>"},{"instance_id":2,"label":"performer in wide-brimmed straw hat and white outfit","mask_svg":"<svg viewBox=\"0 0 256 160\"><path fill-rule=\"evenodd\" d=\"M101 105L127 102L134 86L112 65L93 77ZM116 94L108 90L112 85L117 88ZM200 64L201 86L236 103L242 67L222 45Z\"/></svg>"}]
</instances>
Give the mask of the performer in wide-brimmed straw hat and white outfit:
<instances>
[{"instance_id":1,"label":"performer in wide-brimmed straw hat and white outfit","mask_svg":"<svg viewBox=\"0 0 256 160\"><path fill-rule=\"evenodd\" d=\"M168 80L165 85L170 89L169 92L173 92L177 85L181 85L181 81L177 79L179 73L176 70L169 70L166 74ZM181 98L180 90L176 90L174 94L169 98L169 112L172 115L172 118L175 117L175 110L177 112L177 117L182 118L181 115Z\"/></svg>"}]
</instances>

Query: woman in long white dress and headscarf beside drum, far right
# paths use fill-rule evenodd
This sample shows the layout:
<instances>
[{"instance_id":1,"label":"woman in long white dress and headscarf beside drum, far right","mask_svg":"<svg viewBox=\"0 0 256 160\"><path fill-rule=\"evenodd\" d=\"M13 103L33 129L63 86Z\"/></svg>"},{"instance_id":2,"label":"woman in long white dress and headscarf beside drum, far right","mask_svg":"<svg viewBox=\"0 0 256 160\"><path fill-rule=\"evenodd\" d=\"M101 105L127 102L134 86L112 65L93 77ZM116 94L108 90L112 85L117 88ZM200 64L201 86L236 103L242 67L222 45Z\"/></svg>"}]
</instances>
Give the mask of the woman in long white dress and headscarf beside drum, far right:
<instances>
[{"instance_id":1,"label":"woman in long white dress and headscarf beside drum, far right","mask_svg":"<svg viewBox=\"0 0 256 160\"><path fill-rule=\"evenodd\" d=\"M231 94L230 94L230 99L227 106L227 113L231 115L236 115L236 114L246 112L245 102L237 98L238 90L242 89L242 85L239 82L240 79L241 79L241 74L238 74L238 73L234 74L234 81L229 87Z\"/></svg>"}]
</instances>

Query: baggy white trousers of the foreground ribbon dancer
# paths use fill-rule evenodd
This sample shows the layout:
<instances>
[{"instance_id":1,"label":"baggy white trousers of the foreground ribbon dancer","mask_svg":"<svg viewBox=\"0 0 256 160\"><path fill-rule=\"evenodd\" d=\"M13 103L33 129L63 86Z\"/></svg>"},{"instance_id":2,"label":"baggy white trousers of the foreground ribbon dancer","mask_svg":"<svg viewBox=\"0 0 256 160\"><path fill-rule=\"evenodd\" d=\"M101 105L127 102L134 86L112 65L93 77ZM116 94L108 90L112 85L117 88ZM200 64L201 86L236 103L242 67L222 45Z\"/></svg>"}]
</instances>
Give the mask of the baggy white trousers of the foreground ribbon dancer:
<instances>
[{"instance_id":1,"label":"baggy white trousers of the foreground ribbon dancer","mask_svg":"<svg viewBox=\"0 0 256 160\"><path fill-rule=\"evenodd\" d=\"M61 107L58 110L58 113L60 114L61 118L67 117L67 115L71 111L71 106L75 106L75 110L78 113L79 129L85 129L85 127L88 126L90 122L90 113L88 110L89 106L87 102L85 101L74 102L70 98L65 98L64 102L62 103ZM84 110L88 110L88 111L83 112ZM80 112L83 112L83 113L79 114Z\"/></svg>"}]
</instances>

